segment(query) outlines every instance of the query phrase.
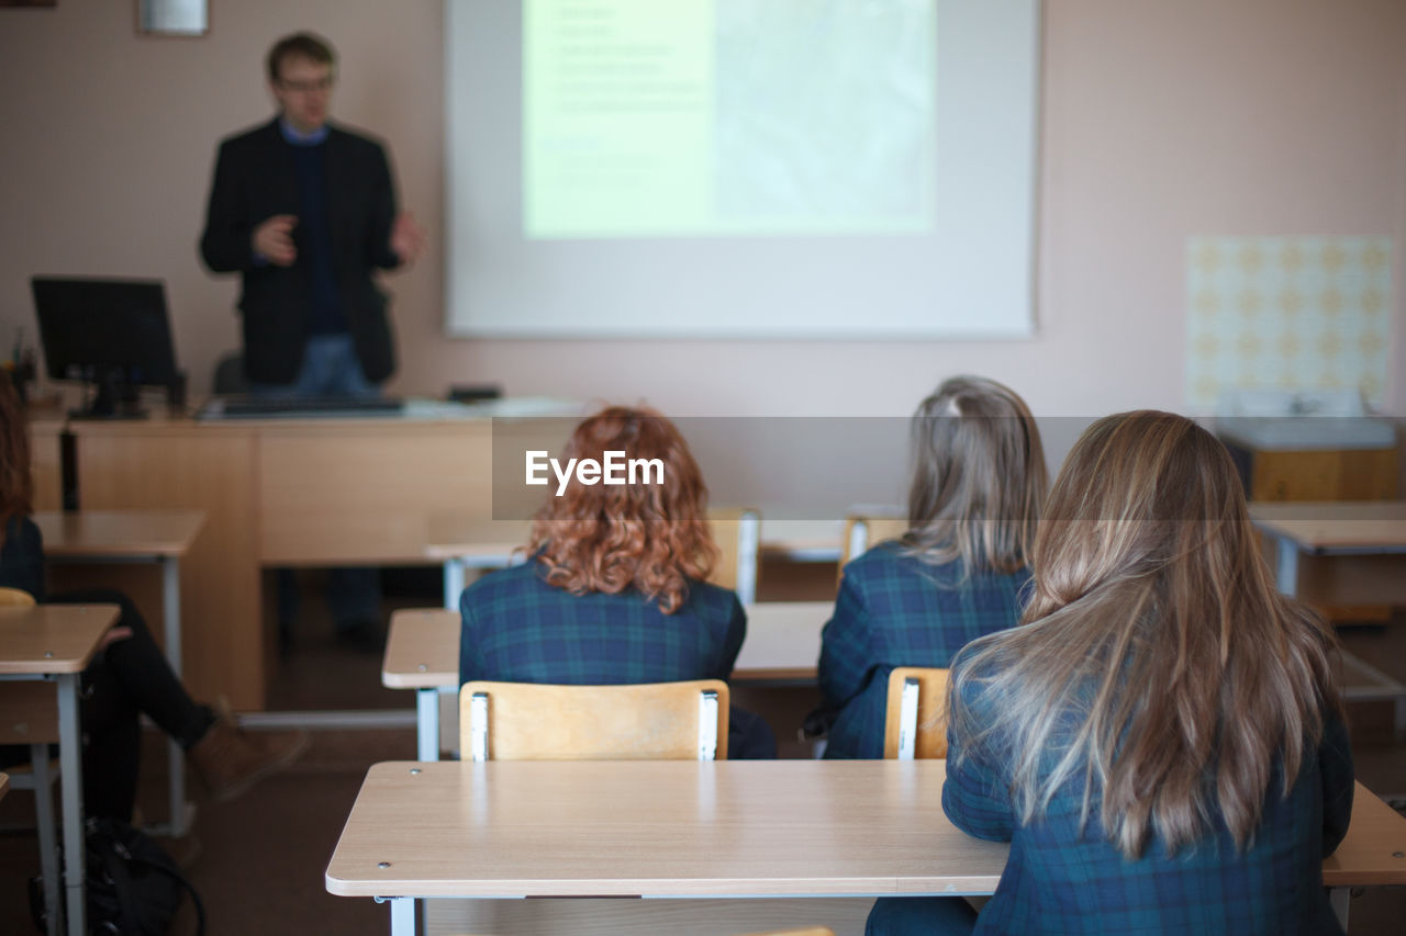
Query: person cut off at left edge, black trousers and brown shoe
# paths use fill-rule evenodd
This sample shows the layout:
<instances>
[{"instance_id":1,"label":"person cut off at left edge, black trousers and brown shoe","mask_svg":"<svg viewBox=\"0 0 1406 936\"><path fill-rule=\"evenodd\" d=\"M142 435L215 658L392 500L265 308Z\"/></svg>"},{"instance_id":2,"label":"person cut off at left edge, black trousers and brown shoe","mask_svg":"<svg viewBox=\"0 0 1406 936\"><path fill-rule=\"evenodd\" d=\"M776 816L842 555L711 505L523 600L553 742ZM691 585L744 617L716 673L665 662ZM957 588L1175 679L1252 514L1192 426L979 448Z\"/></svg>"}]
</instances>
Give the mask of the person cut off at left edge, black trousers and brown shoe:
<instances>
[{"instance_id":1,"label":"person cut off at left edge, black trousers and brown shoe","mask_svg":"<svg viewBox=\"0 0 1406 936\"><path fill-rule=\"evenodd\" d=\"M186 749L214 800L228 800L290 763L308 743L304 731L240 731L229 717L191 700L152 639L146 621L120 592L46 596L44 541L30 519L34 483L30 438L18 395L0 375L0 586L37 602L120 604L117 625L83 673L83 804L89 815L131 822L136 801L145 714ZM0 765L25 763L30 748L0 745Z\"/></svg>"}]
</instances>

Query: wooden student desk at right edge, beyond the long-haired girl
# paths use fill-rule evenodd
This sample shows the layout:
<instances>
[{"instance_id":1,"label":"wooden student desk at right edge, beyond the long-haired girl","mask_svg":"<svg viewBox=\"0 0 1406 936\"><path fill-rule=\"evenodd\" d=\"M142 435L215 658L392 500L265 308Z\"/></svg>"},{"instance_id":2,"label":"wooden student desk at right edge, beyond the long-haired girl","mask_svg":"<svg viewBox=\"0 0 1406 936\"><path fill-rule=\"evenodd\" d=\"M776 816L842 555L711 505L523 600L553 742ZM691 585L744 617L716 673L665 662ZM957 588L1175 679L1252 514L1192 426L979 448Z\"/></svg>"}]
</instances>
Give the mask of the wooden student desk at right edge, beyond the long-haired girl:
<instances>
[{"instance_id":1,"label":"wooden student desk at right edge, beyond the long-haired girl","mask_svg":"<svg viewBox=\"0 0 1406 936\"><path fill-rule=\"evenodd\" d=\"M1251 503L1250 519L1274 540L1279 592L1319 604L1406 606L1406 500ZM1406 686L1343 654L1343 696L1395 700L1406 732Z\"/></svg>"}]
</instances>

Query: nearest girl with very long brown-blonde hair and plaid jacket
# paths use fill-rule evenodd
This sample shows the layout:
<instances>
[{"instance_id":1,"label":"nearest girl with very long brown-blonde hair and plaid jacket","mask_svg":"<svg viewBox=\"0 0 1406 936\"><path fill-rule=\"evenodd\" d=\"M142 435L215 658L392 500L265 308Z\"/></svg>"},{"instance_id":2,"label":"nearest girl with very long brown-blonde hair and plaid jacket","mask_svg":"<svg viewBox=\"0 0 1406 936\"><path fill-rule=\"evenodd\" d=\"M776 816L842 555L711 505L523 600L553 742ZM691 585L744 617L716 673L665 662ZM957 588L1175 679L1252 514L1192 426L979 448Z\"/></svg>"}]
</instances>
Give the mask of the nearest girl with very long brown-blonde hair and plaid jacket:
<instances>
[{"instance_id":1,"label":"nearest girl with very long brown-blonde hair and plaid jacket","mask_svg":"<svg viewBox=\"0 0 1406 936\"><path fill-rule=\"evenodd\" d=\"M1094 423L1050 492L1021 627L952 666L942 808L1010 840L977 918L869 933L1340 933L1323 857L1353 759L1333 632L1279 594L1230 455L1171 413Z\"/></svg>"}]
</instances>

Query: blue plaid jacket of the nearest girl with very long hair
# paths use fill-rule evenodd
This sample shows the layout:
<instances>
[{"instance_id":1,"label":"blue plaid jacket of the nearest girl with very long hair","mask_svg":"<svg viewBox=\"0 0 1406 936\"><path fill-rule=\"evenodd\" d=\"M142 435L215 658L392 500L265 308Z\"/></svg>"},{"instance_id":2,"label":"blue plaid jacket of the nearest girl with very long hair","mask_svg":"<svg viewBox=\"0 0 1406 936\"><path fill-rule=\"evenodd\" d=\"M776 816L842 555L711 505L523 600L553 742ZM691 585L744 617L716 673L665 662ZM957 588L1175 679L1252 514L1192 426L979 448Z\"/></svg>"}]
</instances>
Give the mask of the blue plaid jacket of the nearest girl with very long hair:
<instances>
[{"instance_id":1,"label":"blue plaid jacket of the nearest girl with very long hair","mask_svg":"<svg viewBox=\"0 0 1406 936\"><path fill-rule=\"evenodd\" d=\"M960 666L960 662L959 662ZM972 683L969 683L969 687ZM980 722L1000 713L969 689L963 703ZM1107 839L1094 812L1080 831L1084 780L1062 788L1046 814L1021 825L1010 797L1002 738L967 748L948 731L942 808L980 839L1011 843L995 897L977 933L1341 933L1323 890L1331 854L1353 812L1353 755L1343 722L1327 717L1317 749L1305 752L1289 795L1275 772L1251 847L1237 852L1219 817L1215 835L1168 857L1153 839L1130 862Z\"/></svg>"}]
</instances>

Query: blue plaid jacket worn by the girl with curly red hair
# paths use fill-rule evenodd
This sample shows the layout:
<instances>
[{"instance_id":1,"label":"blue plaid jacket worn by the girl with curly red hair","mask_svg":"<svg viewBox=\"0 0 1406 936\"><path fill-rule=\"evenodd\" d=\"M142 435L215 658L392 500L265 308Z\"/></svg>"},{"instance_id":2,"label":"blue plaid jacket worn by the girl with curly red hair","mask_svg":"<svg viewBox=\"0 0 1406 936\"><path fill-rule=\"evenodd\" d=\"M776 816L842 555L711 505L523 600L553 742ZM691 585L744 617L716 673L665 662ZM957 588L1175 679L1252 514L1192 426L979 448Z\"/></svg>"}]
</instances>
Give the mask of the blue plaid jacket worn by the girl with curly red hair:
<instances>
[{"instance_id":1,"label":"blue plaid jacket worn by the girl with curly red hair","mask_svg":"<svg viewBox=\"0 0 1406 936\"><path fill-rule=\"evenodd\" d=\"M485 575L464 589L458 682L609 686L727 679L747 614L727 589L690 582L665 614L637 592L571 594L538 562Z\"/></svg>"}]
</instances>

